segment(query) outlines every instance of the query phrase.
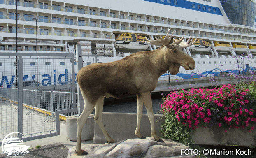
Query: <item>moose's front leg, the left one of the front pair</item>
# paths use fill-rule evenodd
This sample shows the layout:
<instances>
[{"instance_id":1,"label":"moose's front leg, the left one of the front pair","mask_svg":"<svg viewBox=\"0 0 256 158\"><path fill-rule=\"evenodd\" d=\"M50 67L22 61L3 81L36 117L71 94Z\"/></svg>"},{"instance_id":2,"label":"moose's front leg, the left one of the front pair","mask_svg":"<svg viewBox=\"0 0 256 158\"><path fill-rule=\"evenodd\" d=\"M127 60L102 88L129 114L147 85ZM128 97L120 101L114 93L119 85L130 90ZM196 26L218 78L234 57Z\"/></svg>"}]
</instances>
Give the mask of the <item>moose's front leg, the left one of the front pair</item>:
<instances>
[{"instance_id":1,"label":"moose's front leg, the left one of the front pair","mask_svg":"<svg viewBox=\"0 0 256 158\"><path fill-rule=\"evenodd\" d=\"M142 109L143 109L143 100L141 94L137 94L137 128L135 130L135 136L141 139L145 139L143 135L140 133L140 122L142 117Z\"/></svg>"}]
</instances>

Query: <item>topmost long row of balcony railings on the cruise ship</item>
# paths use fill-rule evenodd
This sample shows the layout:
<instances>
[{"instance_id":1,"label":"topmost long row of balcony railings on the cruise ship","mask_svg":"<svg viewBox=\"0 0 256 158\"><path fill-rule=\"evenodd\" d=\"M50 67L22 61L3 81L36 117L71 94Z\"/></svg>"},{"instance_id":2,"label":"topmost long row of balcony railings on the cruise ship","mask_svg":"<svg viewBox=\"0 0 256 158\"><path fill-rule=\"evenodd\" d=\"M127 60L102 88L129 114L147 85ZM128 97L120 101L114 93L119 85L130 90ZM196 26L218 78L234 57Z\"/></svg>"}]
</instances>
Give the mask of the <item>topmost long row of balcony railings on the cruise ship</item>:
<instances>
[{"instance_id":1,"label":"topmost long row of balcony railings on the cruise ship","mask_svg":"<svg viewBox=\"0 0 256 158\"><path fill-rule=\"evenodd\" d=\"M7 4L7 5L16 5L16 0L0 0L0 4ZM147 19L147 18L141 18L141 17L133 17L133 16L126 16L126 15L116 15L113 13L106 13L105 11L96 12L94 10L86 11L83 8L72 8L72 7L61 7L60 5L48 5L47 3L40 3L40 4L34 4L34 2L18 2L19 6L23 7L33 7L33 8L40 8L40 9L49 9L49 10L57 10L57 11L63 11L63 12L72 12L72 13L79 13L79 14L90 14L95 16L107 16L112 18L119 18L119 19L129 19L129 20L135 20L135 21L147 21L147 22L153 22L153 23L162 23L167 25L176 25L176 26L185 26L185 27L192 27L192 28L202 28L202 29L208 29L208 30L217 30L217 31L224 31L224 32L234 32L234 33L241 33L240 31L235 30L228 30L223 28L213 28L212 26L198 26L198 25L191 25L191 24L184 24L184 23L177 23L177 22L171 22L171 21L162 21L157 19ZM243 34L248 34L245 32L242 32Z\"/></svg>"}]
</instances>

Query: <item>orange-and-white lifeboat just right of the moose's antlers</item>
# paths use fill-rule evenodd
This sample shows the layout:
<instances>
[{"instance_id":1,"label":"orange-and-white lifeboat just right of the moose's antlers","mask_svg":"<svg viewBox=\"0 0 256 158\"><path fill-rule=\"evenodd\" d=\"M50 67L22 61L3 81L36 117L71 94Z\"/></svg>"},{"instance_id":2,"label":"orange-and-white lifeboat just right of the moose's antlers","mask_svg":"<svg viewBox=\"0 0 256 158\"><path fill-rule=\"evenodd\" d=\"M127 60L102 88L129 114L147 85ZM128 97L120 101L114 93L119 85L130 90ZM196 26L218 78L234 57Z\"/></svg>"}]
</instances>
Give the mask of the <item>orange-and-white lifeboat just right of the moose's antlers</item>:
<instances>
[{"instance_id":1,"label":"orange-and-white lifeboat just right of the moose's antlers","mask_svg":"<svg viewBox=\"0 0 256 158\"><path fill-rule=\"evenodd\" d=\"M193 42L195 39L193 39ZM190 51L209 52L211 50L211 44L205 40L197 39L195 43L189 46Z\"/></svg>"}]
</instances>

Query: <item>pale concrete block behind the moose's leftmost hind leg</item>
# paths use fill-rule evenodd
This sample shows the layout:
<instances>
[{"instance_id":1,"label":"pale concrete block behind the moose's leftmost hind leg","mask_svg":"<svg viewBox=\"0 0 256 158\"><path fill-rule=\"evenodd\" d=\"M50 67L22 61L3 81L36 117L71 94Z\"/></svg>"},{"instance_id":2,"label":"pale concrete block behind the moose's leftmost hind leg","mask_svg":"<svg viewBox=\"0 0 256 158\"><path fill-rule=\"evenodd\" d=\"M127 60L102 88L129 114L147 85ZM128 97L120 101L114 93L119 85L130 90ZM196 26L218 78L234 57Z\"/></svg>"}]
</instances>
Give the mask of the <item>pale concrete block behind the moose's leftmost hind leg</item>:
<instances>
[{"instance_id":1,"label":"pale concrete block behind the moose's leftmost hind leg","mask_svg":"<svg viewBox=\"0 0 256 158\"><path fill-rule=\"evenodd\" d=\"M83 127L81 140L91 140L93 139L94 133L94 115L91 114ZM72 141L77 141L77 118L76 116L68 116L66 118L67 123L67 139Z\"/></svg>"}]
</instances>

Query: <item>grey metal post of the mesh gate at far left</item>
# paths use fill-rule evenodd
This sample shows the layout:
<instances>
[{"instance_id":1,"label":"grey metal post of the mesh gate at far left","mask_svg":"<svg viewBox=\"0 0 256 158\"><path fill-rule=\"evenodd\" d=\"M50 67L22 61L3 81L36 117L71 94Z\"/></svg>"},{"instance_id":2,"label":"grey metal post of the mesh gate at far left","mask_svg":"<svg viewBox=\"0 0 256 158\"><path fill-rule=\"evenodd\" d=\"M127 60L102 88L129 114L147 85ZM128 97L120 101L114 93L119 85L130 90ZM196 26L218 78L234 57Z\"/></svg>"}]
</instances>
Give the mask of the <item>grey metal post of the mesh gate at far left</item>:
<instances>
[{"instance_id":1,"label":"grey metal post of the mesh gate at far left","mask_svg":"<svg viewBox=\"0 0 256 158\"><path fill-rule=\"evenodd\" d=\"M22 63L22 56L19 55L19 58L18 58L18 132L19 133L22 133L23 132L23 114L22 114L22 111L23 111L23 94L22 94L22 77L23 77L23 63ZM22 135L21 134L18 134L18 137L20 139L22 139Z\"/></svg>"}]
</instances>

